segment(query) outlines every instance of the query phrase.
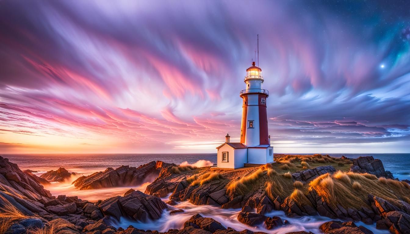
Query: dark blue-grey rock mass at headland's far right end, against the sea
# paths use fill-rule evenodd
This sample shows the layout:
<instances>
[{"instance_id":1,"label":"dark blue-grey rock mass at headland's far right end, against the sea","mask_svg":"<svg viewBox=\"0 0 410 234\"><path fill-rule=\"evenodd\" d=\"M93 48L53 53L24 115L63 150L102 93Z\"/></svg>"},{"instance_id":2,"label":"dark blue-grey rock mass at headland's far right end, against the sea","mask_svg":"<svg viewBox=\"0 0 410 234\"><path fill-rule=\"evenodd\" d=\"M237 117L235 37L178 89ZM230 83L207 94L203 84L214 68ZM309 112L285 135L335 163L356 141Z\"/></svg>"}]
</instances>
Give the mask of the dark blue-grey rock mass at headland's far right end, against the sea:
<instances>
[{"instance_id":1,"label":"dark blue-grey rock mass at headland's far right end, against the sea","mask_svg":"<svg viewBox=\"0 0 410 234\"><path fill-rule=\"evenodd\" d=\"M357 159L349 159L353 162L350 171L354 173L369 173L377 177L385 177L394 179L393 174L386 171L380 159L374 159L373 156L358 157Z\"/></svg>"}]
</instances>

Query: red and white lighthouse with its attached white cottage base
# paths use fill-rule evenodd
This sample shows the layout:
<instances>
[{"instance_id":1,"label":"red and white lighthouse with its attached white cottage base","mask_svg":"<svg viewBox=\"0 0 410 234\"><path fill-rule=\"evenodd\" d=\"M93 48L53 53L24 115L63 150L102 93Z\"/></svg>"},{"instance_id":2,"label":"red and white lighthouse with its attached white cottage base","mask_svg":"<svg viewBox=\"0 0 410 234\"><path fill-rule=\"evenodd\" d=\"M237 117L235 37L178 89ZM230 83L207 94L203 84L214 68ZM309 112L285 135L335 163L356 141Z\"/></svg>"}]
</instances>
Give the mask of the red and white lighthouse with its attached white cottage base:
<instances>
[{"instance_id":1,"label":"red and white lighthouse with its attached white cottage base","mask_svg":"<svg viewBox=\"0 0 410 234\"><path fill-rule=\"evenodd\" d=\"M242 98L240 142L230 142L229 134L225 136L225 143L216 148L219 168L235 169L273 162L266 111L269 91L262 89L262 69L255 62L246 69L244 82L246 89L239 93Z\"/></svg>"}]
</instances>

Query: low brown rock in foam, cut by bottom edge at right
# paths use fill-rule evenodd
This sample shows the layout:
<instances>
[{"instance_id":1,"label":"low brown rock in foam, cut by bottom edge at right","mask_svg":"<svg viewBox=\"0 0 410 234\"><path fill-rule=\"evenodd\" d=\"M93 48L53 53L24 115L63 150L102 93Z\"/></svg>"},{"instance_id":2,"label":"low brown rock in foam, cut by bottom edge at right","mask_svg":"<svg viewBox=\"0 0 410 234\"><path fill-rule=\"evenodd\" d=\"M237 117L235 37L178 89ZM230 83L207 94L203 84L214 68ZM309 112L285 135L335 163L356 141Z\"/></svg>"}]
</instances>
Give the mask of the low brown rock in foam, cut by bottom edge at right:
<instances>
[{"instance_id":1,"label":"low brown rock in foam, cut by bottom edge at right","mask_svg":"<svg viewBox=\"0 0 410 234\"><path fill-rule=\"evenodd\" d=\"M342 223L338 220L323 223L320 229L326 234L373 234L366 227L358 227L353 222Z\"/></svg>"}]
</instances>

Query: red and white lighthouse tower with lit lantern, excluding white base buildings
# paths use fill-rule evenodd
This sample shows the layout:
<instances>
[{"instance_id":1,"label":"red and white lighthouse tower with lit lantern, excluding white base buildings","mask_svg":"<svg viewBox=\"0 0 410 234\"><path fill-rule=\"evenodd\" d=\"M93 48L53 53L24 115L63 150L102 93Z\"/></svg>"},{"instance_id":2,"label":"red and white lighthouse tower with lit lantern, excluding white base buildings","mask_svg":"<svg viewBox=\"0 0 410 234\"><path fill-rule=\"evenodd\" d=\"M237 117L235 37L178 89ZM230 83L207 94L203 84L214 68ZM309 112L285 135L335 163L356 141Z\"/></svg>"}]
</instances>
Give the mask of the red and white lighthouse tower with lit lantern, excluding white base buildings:
<instances>
[{"instance_id":1,"label":"red and white lighthouse tower with lit lantern, excluding white base buildings","mask_svg":"<svg viewBox=\"0 0 410 234\"><path fill-rule=\"evenodd\" d=\"M268 146L268 116L266 114L266 98L269 91L262 89L262 69L252 66L246 69L244 80L246 89L240 93L243 99L241 121L241 143L247 147Z\"/></svg>"}]
</instances>

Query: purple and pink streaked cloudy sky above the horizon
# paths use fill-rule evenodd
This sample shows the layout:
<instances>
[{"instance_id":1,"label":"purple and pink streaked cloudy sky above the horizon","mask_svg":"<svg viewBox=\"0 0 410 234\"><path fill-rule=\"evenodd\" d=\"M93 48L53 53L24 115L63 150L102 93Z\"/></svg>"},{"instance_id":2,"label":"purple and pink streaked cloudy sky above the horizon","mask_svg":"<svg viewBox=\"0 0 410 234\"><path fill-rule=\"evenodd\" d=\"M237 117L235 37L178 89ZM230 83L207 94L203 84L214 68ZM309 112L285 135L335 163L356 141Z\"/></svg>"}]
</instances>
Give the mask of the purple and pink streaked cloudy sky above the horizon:
<instances>
[{"instance_id":1,"label":"purple and pink streaked cloudy sky above the horizon","mask_svg":"<svg viewBox=\"0 0 410 234\"><path fill-rule=\"evenodd\" d=\"M410 1L0 1L0 153L410 152Z\"/></svg>"}]
</instances>

